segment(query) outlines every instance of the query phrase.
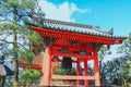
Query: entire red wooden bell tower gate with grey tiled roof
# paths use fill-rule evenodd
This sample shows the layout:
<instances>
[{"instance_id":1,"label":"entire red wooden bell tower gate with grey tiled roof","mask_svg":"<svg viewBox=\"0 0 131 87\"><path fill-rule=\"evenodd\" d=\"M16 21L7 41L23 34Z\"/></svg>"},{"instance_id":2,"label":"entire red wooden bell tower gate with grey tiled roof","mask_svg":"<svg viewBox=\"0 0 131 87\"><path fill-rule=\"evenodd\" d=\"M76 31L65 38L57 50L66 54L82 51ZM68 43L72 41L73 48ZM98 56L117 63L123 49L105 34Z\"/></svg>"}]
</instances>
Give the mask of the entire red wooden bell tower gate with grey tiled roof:
<instances>
[{"instance_id":1,"label":"entire red wooden bell tower gate with grey tiled roof","mask_svg":"<svg viewBox=\"0 0 131 87\"><path fill-rule=\"evenodd\" d=\"M44 73L40 79L41 86L50 86L51 79L76 79L76 85L81 85L81 80L84 80L84 86L88 86L88 80L95 80L95 86L100 86L97 51L104 45L109 48L110 45L122 44L126 39L126 37L112 36L112 29L104 32L98 26L47 18L43 28L32 27L32 29L44 38L44 44L47 46L44 50L43 65L38 67ZM59 57L62 57L62 60ZM87 62L91 60L94 61L94 76L88 75ZM69 64L69 69L75 63L76 75L53 75L51 64L56 61L62 62L63 67ZM82 62L84 75L81 75Z\"/></svg>"}]
</instances>

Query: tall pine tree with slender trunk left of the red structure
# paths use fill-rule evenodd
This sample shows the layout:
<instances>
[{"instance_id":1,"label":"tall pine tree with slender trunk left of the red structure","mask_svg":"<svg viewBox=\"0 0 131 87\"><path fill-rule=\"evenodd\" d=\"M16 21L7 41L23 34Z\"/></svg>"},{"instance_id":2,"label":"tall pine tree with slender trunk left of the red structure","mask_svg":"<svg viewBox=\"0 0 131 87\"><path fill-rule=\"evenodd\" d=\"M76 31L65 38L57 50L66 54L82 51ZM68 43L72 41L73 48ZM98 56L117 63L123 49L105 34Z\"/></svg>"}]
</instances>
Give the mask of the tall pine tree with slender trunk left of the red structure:
<instances>
[{"instance_id":1,"label":"tall pine tree with slender trunk left of the red structure","mask_svg":"<svg viewBox=\"0 0 131 87\"><path fill-rule=\"evenodd\" d=\"M0 34L4 37L0 38L0 41L1 45L12 45L9 47L14 60L14 87L17 87L19 84L19 51L21 48L29 49L28 46L39 39L36 37L38 35L31 32L28 29L31 27L26 24L28 21L35 21L35 25L39 26L40 22L44 21L43 17L44 13L41 13L37 0L0 0ZM13 39L9 41L8 37ZM27 42L27 46L20 41Z\"/></svg>"}]
</instances>

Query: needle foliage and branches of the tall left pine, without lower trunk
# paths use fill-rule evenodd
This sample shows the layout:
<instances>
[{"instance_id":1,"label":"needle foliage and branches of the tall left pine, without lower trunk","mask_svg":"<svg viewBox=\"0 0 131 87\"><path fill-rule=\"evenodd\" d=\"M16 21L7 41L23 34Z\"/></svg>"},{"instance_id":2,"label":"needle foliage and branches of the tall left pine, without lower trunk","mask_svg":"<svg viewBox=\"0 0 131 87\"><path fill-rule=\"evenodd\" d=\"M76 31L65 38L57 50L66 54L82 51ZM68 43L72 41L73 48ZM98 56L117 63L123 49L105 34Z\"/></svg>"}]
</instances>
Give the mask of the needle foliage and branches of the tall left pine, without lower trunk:
<instances>
[{"instance_id":1,"label":"needle foliage and branches of the tall left pine, without lower trunk","mask_svg":"<svg viewBox=\"0 0 131 87\"><path fill-rule=\"evenodd\" d=\"M37 0L1 0L0 21L2 23L0 23L0 32L1 34L7 32L9 35L13 34L16 36L15 41L8 41L8 37L5 37L3 39L4 42L12 45L15 44L20 47L19 49L23 47L24 50L27 48L24 44L20 44L17 39L21 39L26 44L28 42L28 46L38 45L37 42L41 40L40 36L31 30L31 25L26 25L26 22L34 20L39 24L40 21L37 21L36 17L41 21L44 20L44 13L38 7ZM11 50L8 50L8 55L9 53L11 53L10 55L13 55L12 53L14 53L17 48L13 47ZM14 55L16 57L16 52Z\"/></svg>"}]
</instances>

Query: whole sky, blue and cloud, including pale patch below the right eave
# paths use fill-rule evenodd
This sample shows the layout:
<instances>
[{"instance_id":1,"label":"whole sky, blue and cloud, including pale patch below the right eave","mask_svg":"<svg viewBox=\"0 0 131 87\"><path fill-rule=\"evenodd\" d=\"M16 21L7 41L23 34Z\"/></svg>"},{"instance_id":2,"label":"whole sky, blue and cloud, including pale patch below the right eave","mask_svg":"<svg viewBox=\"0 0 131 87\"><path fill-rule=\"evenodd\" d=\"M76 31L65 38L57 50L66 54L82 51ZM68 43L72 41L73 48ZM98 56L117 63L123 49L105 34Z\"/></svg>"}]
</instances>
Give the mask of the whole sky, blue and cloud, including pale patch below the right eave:
<instances>
[{"instance_id":1,"label":"whole sky, blue and cloud, including pale patch below the right eave","mask_svg":"<svg viewBox=\"0 0 131 87\"><path fill-rule=\"evenodd\" d=\"M114 27L114 36L131 33L131 0L39 0L46 18L99 26L102 30ZM120 57L119 45L111 46L105 61Z\"/></svg>"}]
</instances>

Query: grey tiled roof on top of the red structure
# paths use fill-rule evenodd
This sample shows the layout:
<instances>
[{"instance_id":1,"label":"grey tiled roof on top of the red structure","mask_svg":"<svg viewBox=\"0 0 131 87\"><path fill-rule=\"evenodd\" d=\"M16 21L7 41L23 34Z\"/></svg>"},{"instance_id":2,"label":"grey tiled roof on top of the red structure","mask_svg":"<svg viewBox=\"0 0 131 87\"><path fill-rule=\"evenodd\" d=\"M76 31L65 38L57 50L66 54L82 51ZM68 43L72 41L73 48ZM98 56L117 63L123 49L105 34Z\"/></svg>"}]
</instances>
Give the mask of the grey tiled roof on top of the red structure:
<instances>
[{"instance_id":1,"label":"grey tiled roof on top of the red structure","mask_svg":"<svg viewBox=\"0 0 131 87\"><path fill-rule=\"evenodd\" d=\"M75 23L69 23L69 22L62 22L62 21L56 21L56 20L45 18L44 27L56 29L56 30L112 37L112 29L109 32L104 32L104 30L100 30L98 26L75 24Z\"/></svg>"}]
</instances>

